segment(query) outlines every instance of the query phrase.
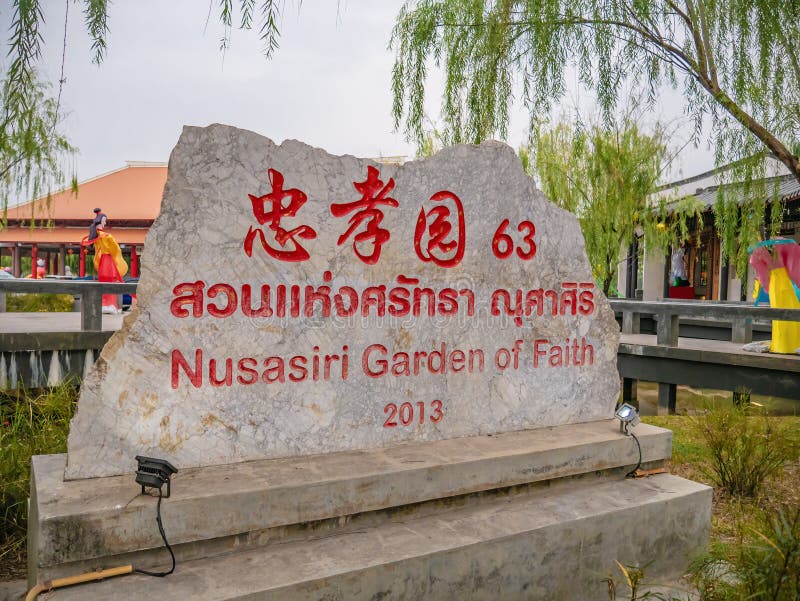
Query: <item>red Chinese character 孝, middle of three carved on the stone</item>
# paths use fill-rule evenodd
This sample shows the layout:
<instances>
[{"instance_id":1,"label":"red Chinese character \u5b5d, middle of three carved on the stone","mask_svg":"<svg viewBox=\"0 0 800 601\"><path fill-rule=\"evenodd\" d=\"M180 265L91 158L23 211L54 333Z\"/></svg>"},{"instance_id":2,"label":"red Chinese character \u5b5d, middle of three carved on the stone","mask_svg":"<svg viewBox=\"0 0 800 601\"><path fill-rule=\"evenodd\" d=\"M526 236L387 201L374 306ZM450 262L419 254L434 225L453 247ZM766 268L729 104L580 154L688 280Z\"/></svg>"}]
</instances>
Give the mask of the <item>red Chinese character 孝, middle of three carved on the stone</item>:
<instances>
[{"instance_id":1,"label":"red Chinese character \u5b5d, middle of three carved on the stone","mask_svg":"<svg viewBox=\"0 0 800 601\"><path fill-rule=\"evenodd\" d=\"M399 203L388 196L394 189L394 179L384 185L378 177L378 170L372 165L367 167L367 179L363 182L353 182L353 186L361 193L361 199L349 203L333 203L331 214L334 217L343 217L348 213L355 213L348 223L350 227L339 236L337 244L341 246L350 235L366 222L364 231L353 236L353 251L359 259L368 265L375 265L381 258L381 247L389 240L389 231L380 227L383 221L383 211L377 208L379 205L396 207ZM371 246L369 252L362 252L364 246Z\"/></svg>"}]
</instances>

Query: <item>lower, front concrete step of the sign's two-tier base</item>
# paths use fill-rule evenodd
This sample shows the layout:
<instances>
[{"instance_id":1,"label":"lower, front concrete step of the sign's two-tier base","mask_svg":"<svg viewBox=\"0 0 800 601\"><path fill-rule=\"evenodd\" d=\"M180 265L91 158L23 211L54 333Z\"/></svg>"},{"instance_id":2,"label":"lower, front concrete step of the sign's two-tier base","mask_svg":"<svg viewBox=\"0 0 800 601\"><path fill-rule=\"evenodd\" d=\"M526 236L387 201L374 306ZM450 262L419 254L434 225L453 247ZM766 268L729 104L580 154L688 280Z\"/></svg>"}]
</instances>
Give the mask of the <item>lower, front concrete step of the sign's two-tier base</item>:
<instances>
[{"instance_id":1,"label":"lower, front concrete step of the sign's two-tier base","mask_svg":"<svg viewBox=\"0 0 800 601\"><path fill-rule=\"evenodd\" d=\"M711 489L661 474L526 487L468 507L53 591L51 601L606 598L614 560L678 575L707 544ZM209 516L212 517L212 516ZM167 535L170 524L165 520ZM167 561L167 554L163 556Z\"/></svg>"}]
</instances>

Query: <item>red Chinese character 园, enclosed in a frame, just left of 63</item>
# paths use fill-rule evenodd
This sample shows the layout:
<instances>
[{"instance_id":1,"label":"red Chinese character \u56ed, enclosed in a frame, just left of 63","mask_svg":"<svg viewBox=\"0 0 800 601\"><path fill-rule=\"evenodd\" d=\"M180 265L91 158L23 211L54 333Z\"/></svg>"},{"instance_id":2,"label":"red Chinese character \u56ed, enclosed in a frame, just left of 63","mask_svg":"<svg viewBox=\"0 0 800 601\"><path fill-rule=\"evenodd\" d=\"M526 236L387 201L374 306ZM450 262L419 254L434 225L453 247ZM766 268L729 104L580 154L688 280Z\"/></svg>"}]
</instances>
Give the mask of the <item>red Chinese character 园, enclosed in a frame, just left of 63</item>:
<instances>
[{"instance_id":1,"label":"red Chinese character \u56ed, enclosed in a frame, just left of 63","mask_svg":"<svg viewBox=\"0 0 800 601\"><path fill-rule=\"evenodd\" d=\"M455 267L464 258L466 225L464 206L461 199L447 190L431 196L434 202L441 202L427 213L425 207L419 211L417 227L414 230L414 250L424 262L433 262L439 267ZM451 201L455 217L446 203ZM454 223L453 223L454 222ZM455 233L451 236L455 225Z\"/></svg>"}]
</instances>

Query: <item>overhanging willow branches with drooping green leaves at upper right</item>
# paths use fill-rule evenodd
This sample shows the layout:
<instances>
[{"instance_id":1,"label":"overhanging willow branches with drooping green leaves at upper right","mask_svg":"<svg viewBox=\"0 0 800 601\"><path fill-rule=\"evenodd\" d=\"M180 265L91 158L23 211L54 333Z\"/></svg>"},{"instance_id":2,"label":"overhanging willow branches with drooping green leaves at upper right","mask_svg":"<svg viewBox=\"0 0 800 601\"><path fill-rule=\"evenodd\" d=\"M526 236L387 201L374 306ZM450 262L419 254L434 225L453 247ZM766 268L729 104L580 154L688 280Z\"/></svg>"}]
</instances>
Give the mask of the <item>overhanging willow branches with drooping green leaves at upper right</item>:
<instances>
[{"instance_id":1,"label":"overhanging willow branches with drooping green leaves at upper right","mask_svg":"<svg viewBox=\"0 0 800 601\"><path fill-rule=\"evenodd\" d=\"M447 143L504 138L515 100L534 129L573 69L609 123L622 83L651 103L662 86L679 88L696 139L710 123L717 164L736 162L722 183L744 181L754 192L737 199L743 217L718 224L723 252L736 256L732 241L763 224L768 196L755 194L755 182L767 156L800 180L798 22L800 2L774 0L411 0L392 36L395 125L423 141L431 64L445 75ZM720 203L731 188L722 189ZM780 207L772 214L779 219Z\"/></svg>"}]
</instances>

